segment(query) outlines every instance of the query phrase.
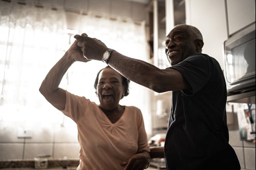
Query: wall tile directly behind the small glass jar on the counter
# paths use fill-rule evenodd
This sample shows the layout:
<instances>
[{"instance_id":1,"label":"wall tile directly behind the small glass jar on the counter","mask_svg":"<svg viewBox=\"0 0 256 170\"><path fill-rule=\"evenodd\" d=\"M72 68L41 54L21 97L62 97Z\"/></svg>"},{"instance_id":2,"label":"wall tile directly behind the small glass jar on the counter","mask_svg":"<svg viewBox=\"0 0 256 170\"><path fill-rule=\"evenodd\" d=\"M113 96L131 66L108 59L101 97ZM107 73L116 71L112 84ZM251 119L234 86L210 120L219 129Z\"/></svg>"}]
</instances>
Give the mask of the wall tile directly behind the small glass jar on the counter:
<instances>
[{"instance_id":1,"label":"wall tile directly behind the small glass jar on the counter","mask_svg":"<svg viewBox=\"0 0 256 170\"><path fill-rule=\"evenodd\" d=\"M24 159L33 159L37 156L52 155L52 143L26 143Z\"/></svg>"}]
</instances>

